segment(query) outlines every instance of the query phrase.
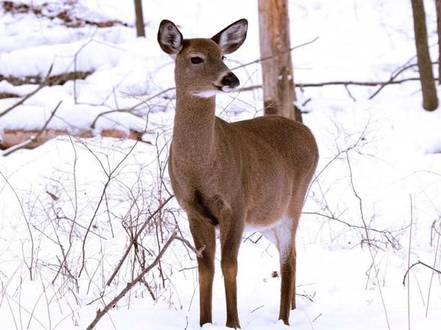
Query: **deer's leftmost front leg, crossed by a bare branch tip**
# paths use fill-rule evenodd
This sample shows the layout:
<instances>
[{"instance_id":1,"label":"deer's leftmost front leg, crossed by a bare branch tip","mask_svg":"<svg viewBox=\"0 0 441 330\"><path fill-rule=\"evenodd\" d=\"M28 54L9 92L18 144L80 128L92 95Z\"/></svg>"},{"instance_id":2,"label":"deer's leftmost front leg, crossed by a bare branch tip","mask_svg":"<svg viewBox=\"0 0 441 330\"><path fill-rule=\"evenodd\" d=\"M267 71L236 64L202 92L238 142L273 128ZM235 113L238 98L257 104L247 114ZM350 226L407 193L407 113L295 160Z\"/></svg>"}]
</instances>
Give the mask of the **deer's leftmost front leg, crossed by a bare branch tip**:
<instances>
[{"instance_id":1,"label":"deer's leftmost front leg, crossed by a bare branch tip","mask_svg":"<svg viewBox=\"0 0 441 330\"><path fill-rule=\"evenodd\" d=\"M194 246L197 250L204 248L202 257L198 257L199 274L199 324L212 323L212 292L214 278L214 253L216 236L214 226L208 219L189 215L189 227Z\"/></svg>"}]
</instances>

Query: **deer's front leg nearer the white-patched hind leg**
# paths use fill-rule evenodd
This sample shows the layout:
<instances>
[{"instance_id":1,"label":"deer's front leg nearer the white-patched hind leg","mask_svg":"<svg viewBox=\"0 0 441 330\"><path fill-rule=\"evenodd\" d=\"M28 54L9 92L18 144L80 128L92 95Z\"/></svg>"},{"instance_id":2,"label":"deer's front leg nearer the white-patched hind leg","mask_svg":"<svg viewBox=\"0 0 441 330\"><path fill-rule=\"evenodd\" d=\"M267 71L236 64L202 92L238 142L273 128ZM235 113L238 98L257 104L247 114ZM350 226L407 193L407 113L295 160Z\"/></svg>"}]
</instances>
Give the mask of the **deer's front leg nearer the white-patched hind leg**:
<instances>
[{"instance_id":1,"label":"deer's front leg nearer the white-patched hind leg","mask_svg":"<svg viewBox=\"0 0 441 330\"><path fill-rule=\"evenodd\" d=\"M227 327L240 329L237 312L237 256L243 234L243 219L233 217L220 223L220 244L222 248L223 279L227 299Z\"/></svg>"}]
</instances>

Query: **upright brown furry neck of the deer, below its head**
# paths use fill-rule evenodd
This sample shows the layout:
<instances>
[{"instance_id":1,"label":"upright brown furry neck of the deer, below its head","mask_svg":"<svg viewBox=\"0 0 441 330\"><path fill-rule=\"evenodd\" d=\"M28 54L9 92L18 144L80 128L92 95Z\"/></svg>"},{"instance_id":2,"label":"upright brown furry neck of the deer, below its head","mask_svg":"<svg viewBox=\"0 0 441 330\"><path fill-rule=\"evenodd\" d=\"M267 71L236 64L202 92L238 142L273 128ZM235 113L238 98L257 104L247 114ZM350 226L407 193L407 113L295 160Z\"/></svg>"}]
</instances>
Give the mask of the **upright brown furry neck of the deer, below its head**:
<instances>
[{"instance_id":1,"label":"upright brown furry neck of the deer, below its head","mask_svg":"<svg viewBox=\"0 0 441 330\"><path fill-rule=\"evenodd\" d=\"M176 89L172 153L176 160L206 166L214 155L216 98L201 98Z\"/></svg>"}]
</instances>

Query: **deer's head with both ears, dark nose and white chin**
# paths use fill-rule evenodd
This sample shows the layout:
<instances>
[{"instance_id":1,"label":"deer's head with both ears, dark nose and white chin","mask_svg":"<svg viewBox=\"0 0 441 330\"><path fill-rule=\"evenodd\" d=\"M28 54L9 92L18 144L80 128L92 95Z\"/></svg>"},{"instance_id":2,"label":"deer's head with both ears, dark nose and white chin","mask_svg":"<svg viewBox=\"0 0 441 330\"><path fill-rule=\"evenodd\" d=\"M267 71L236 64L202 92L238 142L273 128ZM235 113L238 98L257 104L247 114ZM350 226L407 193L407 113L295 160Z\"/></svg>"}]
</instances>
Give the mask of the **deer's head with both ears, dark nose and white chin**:
<instances>
[{"instance_id":1,"label":"deer's head with both ears, dark nose and white chin","mask_svg":"<svg viewBox=\"0 0 441 330\"><path fill-rule=\"evenodd\" d=\"M238 87L238 78L223 59L243 44L247 28L247 20L240 19L210 39L183 39L173 22L161 21L158 43L164 52L175 58L176 88L186 94L210 97Z\"/></svg>"}]
</instances>

